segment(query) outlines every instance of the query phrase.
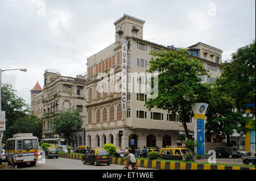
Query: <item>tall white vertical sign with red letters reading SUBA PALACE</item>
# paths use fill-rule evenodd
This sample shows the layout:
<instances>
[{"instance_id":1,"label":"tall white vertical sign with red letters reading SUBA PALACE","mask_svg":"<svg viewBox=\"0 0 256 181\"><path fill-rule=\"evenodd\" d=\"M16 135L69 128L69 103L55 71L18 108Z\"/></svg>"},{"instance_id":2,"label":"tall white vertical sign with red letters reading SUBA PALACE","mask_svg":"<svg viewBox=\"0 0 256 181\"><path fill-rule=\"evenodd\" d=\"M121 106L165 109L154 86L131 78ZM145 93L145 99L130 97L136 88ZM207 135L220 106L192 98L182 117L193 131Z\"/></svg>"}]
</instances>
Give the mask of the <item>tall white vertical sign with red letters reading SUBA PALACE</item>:
<instances>
[{"instance_id":1,"label":"tall white vertical sign with red letters reading SUBA PALACE","mask_svg":"<svg viewBox=\"0 0 256 181\"><path fill-rule=\"evenodd\" d=\"M122 111L127 111L127 40L120 40L122 43Z\"/></svg>"}]
</instances>

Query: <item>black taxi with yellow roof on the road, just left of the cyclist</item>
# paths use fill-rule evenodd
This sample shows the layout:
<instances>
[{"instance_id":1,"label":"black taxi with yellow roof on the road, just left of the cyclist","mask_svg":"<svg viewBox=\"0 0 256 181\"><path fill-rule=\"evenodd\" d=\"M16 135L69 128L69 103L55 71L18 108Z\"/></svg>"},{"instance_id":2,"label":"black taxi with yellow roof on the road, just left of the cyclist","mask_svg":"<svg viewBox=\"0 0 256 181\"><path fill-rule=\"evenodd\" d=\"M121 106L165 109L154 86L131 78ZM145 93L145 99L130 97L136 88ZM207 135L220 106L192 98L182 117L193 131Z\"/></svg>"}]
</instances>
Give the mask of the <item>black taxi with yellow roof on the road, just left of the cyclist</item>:
<instances>
[{"instance_id":1,"label":"black taxi with yellow roof on the road, just left of the cyclist","mask_svg":"<svg viewBox=\"0 0 256 181\"><path fill-rule=\"evenodd\" d=\"M108 150L105 149L90 149L87 153L82 156L82 164L92 163L97 166L100 163L106 163L110 165L111 157Z\"/></svg>"}]
</instances>

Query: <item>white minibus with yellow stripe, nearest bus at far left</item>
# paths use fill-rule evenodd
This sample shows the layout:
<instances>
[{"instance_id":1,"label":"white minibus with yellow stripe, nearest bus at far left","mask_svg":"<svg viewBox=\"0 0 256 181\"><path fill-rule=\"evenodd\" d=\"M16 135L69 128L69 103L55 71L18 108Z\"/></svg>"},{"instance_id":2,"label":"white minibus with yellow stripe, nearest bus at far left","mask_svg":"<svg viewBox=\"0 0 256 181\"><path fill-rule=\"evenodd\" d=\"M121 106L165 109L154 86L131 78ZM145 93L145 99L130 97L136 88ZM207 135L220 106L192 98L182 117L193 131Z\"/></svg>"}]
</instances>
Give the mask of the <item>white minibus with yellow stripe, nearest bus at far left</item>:
<instances>
[{"instance_id":1,"label":"white minibus with yellow stripe, nearest bus at far left","mask_svg":"<svg viewBox=\"0 0 256 181\"><path fill-rule=\"evenodd\" d=\"M13 134L13 138L6 141L5 154L7 162L13 166L24 162L35 166L40 154L38 137L32 133Z\"/></svg>"}]
</instances>

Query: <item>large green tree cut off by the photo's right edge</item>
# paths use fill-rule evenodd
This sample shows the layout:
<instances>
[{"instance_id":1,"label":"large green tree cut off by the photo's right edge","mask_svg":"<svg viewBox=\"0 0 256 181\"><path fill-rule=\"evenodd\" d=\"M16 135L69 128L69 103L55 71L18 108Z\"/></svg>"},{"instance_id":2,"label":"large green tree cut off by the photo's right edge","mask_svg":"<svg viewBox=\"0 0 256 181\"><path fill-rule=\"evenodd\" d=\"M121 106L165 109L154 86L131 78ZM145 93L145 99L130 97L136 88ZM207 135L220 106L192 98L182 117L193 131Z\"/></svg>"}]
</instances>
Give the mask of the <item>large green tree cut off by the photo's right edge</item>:
<instances>
[{"instance_id":1,"label":"large green tree cut off by the photo's right edge","mask_svg":"<svg viewBox=\"0 0 256 181\"><path fill-rule=\"evenodd\" d=\"M225 93L234 99L236 108L255 104L255 41L238 48L232 60L223 64L222 71L220 84L226 87Z\"/></svg>"}]
</instances>

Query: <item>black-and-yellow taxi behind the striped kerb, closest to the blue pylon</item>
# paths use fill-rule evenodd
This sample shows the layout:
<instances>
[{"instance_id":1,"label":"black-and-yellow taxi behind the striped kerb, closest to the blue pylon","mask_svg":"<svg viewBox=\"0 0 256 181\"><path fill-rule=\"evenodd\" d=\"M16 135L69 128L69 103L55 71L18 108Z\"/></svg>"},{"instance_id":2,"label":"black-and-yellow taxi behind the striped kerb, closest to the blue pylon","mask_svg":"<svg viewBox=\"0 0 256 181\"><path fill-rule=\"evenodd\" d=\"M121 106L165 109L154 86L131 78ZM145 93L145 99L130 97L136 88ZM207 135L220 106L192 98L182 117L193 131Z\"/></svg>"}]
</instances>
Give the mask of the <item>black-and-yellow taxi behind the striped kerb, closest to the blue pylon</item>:
<instances>
[{"instance_id":1,"label":"black-and-yellow taxi behind the striped kerb, closest to the blue pylon","mask_svg":"<svg viewBox=\"0 0 256 181\"><path fill-rule=\"evenodd\" d=\"M159 152L160 158L162 159L176 159L176 160L182 160L184 159L184 155L186 153L191 153L192 151L187 148L182 147L170 147L170 148L162 148Z\"/></svg>"}]
</instances>

